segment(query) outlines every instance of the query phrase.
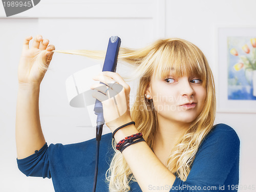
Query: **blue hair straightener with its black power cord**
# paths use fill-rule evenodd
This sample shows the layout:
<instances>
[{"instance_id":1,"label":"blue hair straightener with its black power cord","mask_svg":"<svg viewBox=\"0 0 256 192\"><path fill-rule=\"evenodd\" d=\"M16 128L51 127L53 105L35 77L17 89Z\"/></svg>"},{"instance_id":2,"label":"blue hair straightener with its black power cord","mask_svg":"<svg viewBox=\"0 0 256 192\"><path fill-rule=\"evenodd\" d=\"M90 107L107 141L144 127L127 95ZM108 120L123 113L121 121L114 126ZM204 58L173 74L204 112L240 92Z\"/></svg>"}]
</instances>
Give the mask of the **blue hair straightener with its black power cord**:
<instances>
[{"instance_id":1,"label":"blue hair straightener with its black power cord","mask_svg":"<svg viewBox=\"0 0 256 192\"><path fill-rule=\"evenodd\" d=\"M108 49L106 50L106 56L105 56L102 71L116 72L117 57L118 57L120 44L121 44L121 39L118 36L110 37ZM100 83L105 84L103 82L100 82ZM98 99L96 99L96 101L95 101L94 113L95 113L95 115L97 115L97 126L96 126L97 145L96 145L96 164L95 164L93 191L96 190L97 175L98 175L98 163L99 163L99 141L100 141L101 135L102 135L102 127L105 123L105 120L103 117L102 103Z\"/></svg>"}]
</instances>

